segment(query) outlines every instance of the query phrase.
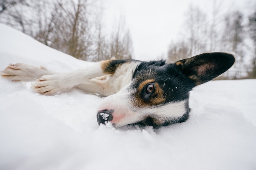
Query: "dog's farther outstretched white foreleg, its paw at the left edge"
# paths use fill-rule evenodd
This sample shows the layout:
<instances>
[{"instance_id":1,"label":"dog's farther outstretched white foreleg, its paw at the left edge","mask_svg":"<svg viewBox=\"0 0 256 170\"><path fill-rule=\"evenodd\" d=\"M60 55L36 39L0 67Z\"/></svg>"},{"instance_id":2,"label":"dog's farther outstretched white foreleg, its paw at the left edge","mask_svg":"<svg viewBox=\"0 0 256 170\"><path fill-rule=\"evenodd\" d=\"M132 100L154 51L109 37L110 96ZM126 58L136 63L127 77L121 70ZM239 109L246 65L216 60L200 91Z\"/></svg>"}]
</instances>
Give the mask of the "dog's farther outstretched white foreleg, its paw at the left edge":
<instances>
[{"instance_id":1,"label":"dog's farther outstretched white foreleg, its paw at the left edge","mask_svg":"<svg viewBox=\"0 0 256 170\"><path fill-rule=\"evenodd\" d=\"M43 66L31 66L23 63L10 64L7 68L4 69L4 71L0 72L2 78L10 79L15 82L35 81L42 75L52 74L56 73L47 70Z\"/></svg>"}]
</instances>

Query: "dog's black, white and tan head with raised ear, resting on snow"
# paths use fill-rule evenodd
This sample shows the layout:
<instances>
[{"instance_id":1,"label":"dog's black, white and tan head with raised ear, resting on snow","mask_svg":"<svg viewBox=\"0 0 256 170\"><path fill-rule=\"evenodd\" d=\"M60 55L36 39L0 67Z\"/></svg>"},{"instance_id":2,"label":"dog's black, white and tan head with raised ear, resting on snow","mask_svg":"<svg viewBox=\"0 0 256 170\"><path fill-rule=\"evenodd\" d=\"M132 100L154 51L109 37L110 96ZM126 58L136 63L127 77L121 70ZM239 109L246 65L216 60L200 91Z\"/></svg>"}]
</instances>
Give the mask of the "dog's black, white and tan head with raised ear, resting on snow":
<instances>
[{"instance_id":1,"label":"dog's black, white and tan head with raised ear, resting on snow","mask_svg":"<svg viewBox=\"0 0 256 170\"><path fill-rule=\"evenodd\" d=\"M158 128L183 122L189 116L189 91L224 73L234 62L233 55L227 53L204 53L173 64L141 62L130 84L103 99L98 123Z\"/></svg>"}]
</instances>

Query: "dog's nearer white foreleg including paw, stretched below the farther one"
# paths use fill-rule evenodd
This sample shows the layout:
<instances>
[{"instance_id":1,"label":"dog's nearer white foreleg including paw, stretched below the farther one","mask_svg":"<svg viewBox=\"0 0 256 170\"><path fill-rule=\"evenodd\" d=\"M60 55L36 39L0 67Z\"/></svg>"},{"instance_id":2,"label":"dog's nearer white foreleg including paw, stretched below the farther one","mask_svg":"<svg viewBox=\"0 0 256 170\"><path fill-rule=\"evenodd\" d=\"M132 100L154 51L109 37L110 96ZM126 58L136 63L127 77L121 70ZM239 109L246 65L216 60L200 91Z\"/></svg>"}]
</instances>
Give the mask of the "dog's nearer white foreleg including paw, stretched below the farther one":
<instances>
[{"instance_id":1,"label":"dog's nearer white foreleg including paw, stretched below the farther one","mask_svg":"<svg viewBox=\"0 0 256 170\"><path fill-rule=\"evenodd\" d=\"M88 82L90 79L106 75L101 69L101 63L85 69L77 70L71 73L60 73L54 75L43 75L32 87L34 91L44 95L53 95L58 91L71 89L74 86Z\"/></svg>"}]
</instances>

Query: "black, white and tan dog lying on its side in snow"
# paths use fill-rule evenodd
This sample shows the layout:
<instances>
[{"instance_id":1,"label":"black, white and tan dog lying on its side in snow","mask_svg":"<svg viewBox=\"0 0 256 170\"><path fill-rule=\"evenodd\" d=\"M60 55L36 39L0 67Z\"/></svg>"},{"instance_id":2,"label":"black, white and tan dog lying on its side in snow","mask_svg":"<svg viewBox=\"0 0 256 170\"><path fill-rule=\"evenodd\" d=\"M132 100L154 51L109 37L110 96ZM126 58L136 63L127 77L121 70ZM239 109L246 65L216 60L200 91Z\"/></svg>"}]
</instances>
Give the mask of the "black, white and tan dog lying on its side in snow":
<instances>
[{"instance_id":1,"label":"black, white and tan dog lying on its side in snow","mask_svg":"<svg viewBox=\"0 0 256 170\"><path fill-rule=\"evenodd\" d=\"M167 64L165 61L105 60L71 73L55 73L43 66L10 64L0 73L15 82L35 81L42 95L79 88L104 96L97 113L98 124L118 128L142 124L159 128L189 118L189 92L212 80L235 62L228 53L203 53Z\"/></svg>"}]
</instances>

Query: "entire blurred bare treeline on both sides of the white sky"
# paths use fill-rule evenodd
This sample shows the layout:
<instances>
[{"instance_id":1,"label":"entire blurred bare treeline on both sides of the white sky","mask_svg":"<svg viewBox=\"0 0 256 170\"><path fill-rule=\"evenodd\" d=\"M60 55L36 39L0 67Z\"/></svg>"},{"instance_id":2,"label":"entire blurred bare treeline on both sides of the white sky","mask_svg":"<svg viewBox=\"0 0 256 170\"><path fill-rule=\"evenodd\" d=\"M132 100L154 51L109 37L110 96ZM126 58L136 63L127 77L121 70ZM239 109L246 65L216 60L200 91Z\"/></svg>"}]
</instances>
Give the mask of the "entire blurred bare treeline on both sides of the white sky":
<instances>
[{"instance_id":1,"label":"entire blurred bare treeline on both sides of the white sky","mask_svg":"<svg viewBox=\"0 0 256 170\"><path fill-rule=\"evenodd\" d=\"M189 6L178 41L168 47L168 62L222 51L236 57L222 78L256 78L256 10L249 16L241 11L224 13L221 2L212 2L211 11ZM81 60L131 59L132 39L125 19L119 18L109 33L103 13L97 0L0 0L0 22L47 46Z\"/></svg>"}]
</instances>

